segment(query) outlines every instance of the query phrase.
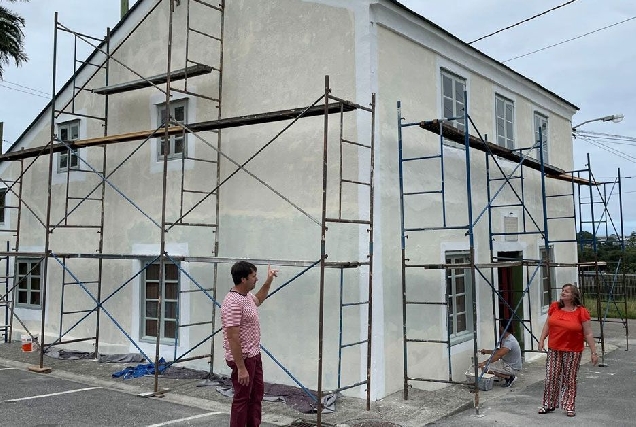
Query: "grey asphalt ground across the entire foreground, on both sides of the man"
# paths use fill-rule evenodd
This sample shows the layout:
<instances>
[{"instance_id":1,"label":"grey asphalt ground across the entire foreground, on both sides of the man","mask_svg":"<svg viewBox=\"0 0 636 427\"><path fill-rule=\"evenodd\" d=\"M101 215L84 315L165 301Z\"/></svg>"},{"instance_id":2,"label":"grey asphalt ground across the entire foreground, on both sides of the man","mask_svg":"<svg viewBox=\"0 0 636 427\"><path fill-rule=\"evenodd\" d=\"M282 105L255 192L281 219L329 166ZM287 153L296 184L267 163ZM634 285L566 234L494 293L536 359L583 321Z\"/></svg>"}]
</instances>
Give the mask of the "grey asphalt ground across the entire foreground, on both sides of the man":
<instances>
[{"instance_id":1,"label":"grey asphalt ground across the entire foreground, on both sides of the man","mask_svg":"<svg viewBox=\"0 0 636 427\"><path fill-rule=\"evenodd\" d=\"M633 331L636 322L630 321ZM576 417L561 410L537 414L543 395L545 362L524 363L510 388L497 383L475 395L467 385L437 390L412 388L372 402L341 397L336 411L323 415L324 427L440 426L633 426L636 425L636 340L622 325L606 328L606 366L592 366L584 357L579 371ZM629 349L629 351L627 351ZM586 350L586 355L589 352ZM170 391L147 397L152 377L114 379L126 365L94 360L45 359L48 374L34 373L37 353L23 353L19 343L0 344L0 426L227 426L231 399L197 379L161 378ZM142 397L146 396L146 397ZM315 426L315 414L300 413L281 402L263 403L263 427Z\"/></svg>"}]
</instances>

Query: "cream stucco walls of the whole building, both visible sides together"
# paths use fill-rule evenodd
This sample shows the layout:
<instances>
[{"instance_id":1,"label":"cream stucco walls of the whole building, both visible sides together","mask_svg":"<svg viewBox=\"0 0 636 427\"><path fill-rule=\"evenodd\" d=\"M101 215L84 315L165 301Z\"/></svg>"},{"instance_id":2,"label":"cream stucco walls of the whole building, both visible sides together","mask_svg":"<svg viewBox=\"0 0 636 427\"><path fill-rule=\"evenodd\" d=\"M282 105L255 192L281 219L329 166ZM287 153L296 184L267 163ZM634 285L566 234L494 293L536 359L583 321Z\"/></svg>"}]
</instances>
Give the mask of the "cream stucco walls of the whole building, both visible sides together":
<instances>
[{"instance_id":1,"label":"cream stucco walls of the whole building, both visible sides together","mask_svg":"<svg viewBox=\"0 0 636 427\"><path fill-rule=\"evenodd\" d=\"M129 20L115 33L111 48L119 46L124 37L146 14L150 3L141 2ZM141 75L150 76L167 70L166 40L168 32L168 10L164 2L152 12L124 44L119 47L111 61L109 83L117 84L135 80ZM374 201L374 307L373 307L373 357L372 398L382 398L402 387L402 299L401 299L401 253L400 253L400 208L398 191L398 156L396 101L402 101L402 112L407 121L434 119L441 116L440 68L449 69L467 79L469 90L469 113L482 133L494 139L494 94L502 93L515 102L515 133L521 140L530 140L532 114L540 110L549 117L549 155L556 166L565 170L572 166L572 144L570 119L572 108L554 95L540 90L505 67L477 54L472 48L450 39L438 29L430 27L402 9L387 1L335 1L335 0L232 0L226 2L224 68L223 68L223 117L234 117L307 106L324 94L324 76L330 76L332 93L361 105L368 105L371 93L377 93L376 152L375 152L375 201ZM201 6L202 7L202 6ZM171 69L183 68L185 64L185 9L180 6L174 14ZM191 11L193 27L216 33L218 17L210 11ZM197 61L216 66L218 46L215 42L195 38L191 40L190 53ZM100 55L98 55L98 58ZM97 61L96 59L95 61ZM123 66L122 64L125 64ZM128 69L130 68L130 69ZM88 72L92 72L89 70ZM78 80L88 78L84 72ZM99 72L87 85L97 88L105 85L105 75ZM175 86L185 89L184 82ZM188 89L218 97L218 74L213 72L188 80ZM187 122L214 120L217 109L214 102L185 94L176 94L173 99L188 98ZM56 105L64 105L70 92L62 93ZM76 112L101 116L104 114L103 98L88 92L81 93L76 101ZM165 102L165 95L156 88L147 88L115 94L109 97L108 134L156 129L159 125L157 105ZM22 139L21 147L43 146L49 139L49 115L37 122ZM63 115L57 122L73 118ZM101 123L80 118L81 137L103 135ZM338 212L339 170L339 117L329 117L328 192L327 215ZM225 179L236 171L236 163L243 163L271 141L261 153L251 160L246 169L271 186L277 192L299 206L300 212L280 195L266 188L244 171L239 171L220 188L220 214L216 218L214 197L210 197L195 209L188 220L197 223L219 223L218 255L230 258L259 260L303 260L317 261L320 258L320 226L315 219L321 216L322 197L322 117L306 118L279 137L276 135L286 122L245 128L227 129L222 132L222 158L220 176ZM368 144L371 117L364 111L345 115L343 136L346 139ZM410 128L405 132L405 149L412 153L433 154L439 151L439 138L423 130ZM216 159L217 136L202 132L187 136L188 154L197 158ZM83 159L95 169L110 174L125 159L123 166L112 174L105 192L104 253L129 254L123 260L104 260L102 299L121 287L104 308L119 326L102 315L100 324L100 346L103 352L137 351L122 333L125 331L147 354L154 354L153 343L140 337L140 315L143 307L141 280L136 274L146 256L156 256L160 250L160 232L156 223L161 222L161 196L163 163L157 160L157 140L142 143L127 142L109 145L107 163L102 166L103 152L94 147L80 152ZM446 208L451 224L466 223L465 152L459 148L445 147L446 156ZM344 152L346 179L368 181L369 153L364 148L348 148ZM25 166L30 160L25 161ZM514 165L501 162L506 171ZM484 154L471 152L473 210L477 214L487 203L484 175ZM492 168L493 166L491 166ZM0 165L3 176L17 177L18 162ZM184 166L185 187L194 190L212 190L216 185L216 165L187 160ZM410 182L435 186L439 182L439 169L410 169ZM542 220L540 209L541 188L535 171L527 171L524 194L526 205L534 218ZM44 248L44 227L36 219L46 217L48 158L38 158L22 184L24 202L35 215L23 206L21 218L20 249ZM181 162L168 162L166 220L180 216ZM54 170L51 177L52 211L51 222L64 217L67 174ZM70 195L86 195L100 180L94 174L72 172L69 177ZM548 180L548 193L568 188L569 184ZM117 190L115 190L117 189ZM129 199L126 200L120 194ZM199 195L186 197L184 208L194 205ZM11 200L16 198L10 195ZM510 190L502 191L500 199L514 201ZM343 216L368 218L368 190L345 186ZM134 202L136 206L133 206ZM553 207L555 216L569 213L572 202ZM72 209L73 203L71 203ZM70 224L97 224L99 208L97 202L85 202L69 217ZM424 223L421 226L440 225L439 202L432 199L413 199L407 203L407 217ZM143 211L147 216L143 215ZM521 209L513 209L522 215ZM565 212L565 213L564 213ZM15 224L15 215L10 216ZM151 219L149 219L150 217ZM311 218L310 218L311 217ZM154 223L153 223L154 221ZM540 224L543 226L543 224ZM503 216L500 212L493 218L495 231L502 231ZM367 227L330 225L326 248L329 261L365 260L368 253ZM572 237L574 229L555 227L558 236ZM551 229L552 230L552 229ZM99 236L95 230L56 229L51 235L54 252L94 252ZM487 217L481 218L475 229L477 262L490 260ZM554 237L551 237L554 238ZM538 235L524 236L518 242L503 242L495 239L496 251L523 251L524 258L538 258L542 245ZM501 239L503 240L503 239ZM175 227L166 235L167 252L172 256L206 257L214 254L211 228ZM430 236L409 236L408 256L413 262L443 263L444 253L449 250L468 249L468 239L463 231L443 231ZM570 248L571 249L571 248ZM575 250L556 250L556 261L574 262ZM130 259L132 258L132 259ZM274 262L275 263L275 262ZM284 264L284 263L282 263ZM47 331L56 336L60 328L60 304L62 269L49 261L47 295ZM70 260L68 267L82 281L95 280L96 260ZM213 286L213 265L200 262L181 263L182 290L196 290L198 283L203 288ZM219 300L231 287L230 264L219 264L217 293ZM273 289L282 285L302 271L300 267L275 265L281 270ZM261 280L266 274L266 265L259 265ZM525 274L525 273L524 273ZM366 299L368 271L365 268L345 270L344 300L353 302ZM558 280L573 280L570 272L559 270ZM414 297L443 299L444 272L441 270L419 273L414 279L425 284ZM68 277L66 281L69 281ZM122 284L129 281L122 287ZM319 271L314 268L294 280L260 309L263 345L271 351L303 384L310 388L317 385L316 360L318 358L318 300ZM496 283L495 283L496 285ZM325 340L323 388L337 387L338 362L338 306L340 272L328 269L325 277ZM87 285L95 292L94 287ZM535 286L533 301L539 297ZM66 288L65 309L81 309L94 306L86 292L77 286ZM482 346L488 345L492 337L492 290L478 280L477 300L479 310L478 334ZM533 305L536 307L536 305ZM213 304L202 292L181 295L180 310L183 323L203 322L211 319ZM540 310L540 308L539 308ZM22 309L29 328L39 328L39 310ZM529 313L528 313L529 314ZM445 315L441 308L422 309L409 314L409 334L445 334ZM412 317L411 317L412 316ZM542 322L542 313L532 313L535 331ZM79 315L65 316L63 330L74 323ZM218 321L218 313L217 313ZM347 308L343 321L344 342L355 342L366 337L366 306ZM70 334L70 338L91 336L95 319L82 322ZM121 329L120 329L121 328ZM177 356L198 345L210 334L209 325L187 328L181 332ZM47 337L50 340L50 337ZM215 338L215 368L227 372L223 363L220 335ZM78 345L82 347L82 345ZM84 345L84 349L90 344ZM189 355L205 354L210 343L198 347ZM170 345L162 345L162 355L173 356ZM347 349L343 352L342 384L358 382L366 375L366 349ZM472 342L452 348L454 379L461 379L470 355ZM413 376L435 377L447 369L445 347L428 347L414 350L409 355L415 361L409 368ZM294 384L275 362L265 360L266 381ZM206 369L207 363L195 361L191 366ZM362 388L347 391L363 396Z\"/></svg>"}]
</instances>

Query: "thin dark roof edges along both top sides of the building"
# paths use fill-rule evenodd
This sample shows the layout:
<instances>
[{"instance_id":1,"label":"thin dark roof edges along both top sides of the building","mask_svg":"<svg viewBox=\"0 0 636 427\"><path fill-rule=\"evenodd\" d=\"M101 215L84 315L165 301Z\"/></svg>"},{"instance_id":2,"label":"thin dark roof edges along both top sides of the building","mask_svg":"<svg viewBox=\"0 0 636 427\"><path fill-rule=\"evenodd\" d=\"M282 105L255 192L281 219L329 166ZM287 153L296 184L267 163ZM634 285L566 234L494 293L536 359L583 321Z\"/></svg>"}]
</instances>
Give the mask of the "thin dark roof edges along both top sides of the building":
<instances>
[{"instance_id":1,"label":"thin dark roof edges along both top sides of the building","mask_svg":"<svg viewBox=\"0 0 636 427\"><path fill-rule=\"evenodd\" d=\"M129 10L128 12L122 17L122 19L117 23L117 25L115 25L115 27L113 27L113 29L111 30L111 36L112 34L116 33L117 30L119 30L119 28L121 28L121 26L126 22L127 19L130 18L130 16L132 15L132 13L140 7L141 3L143 3L144 1L147 0L139 0L137 1ZM572 104L570 101L566 100L565 98L557 95L556 93L552 92L551 90L545 88L544 86L540 85L539 83L535 82L532 79L529 79L528 77L524 76L521 73L518 73L517 71L513 70L512 68L508 67L507 65L497 61L496 59L486 55L485 53L483 53L482 51L480 51L479 49L469 45L468 43L464 42L463 40L461 40L459 37L455 36L454 34L450 33L449 31L445 30L444 28L440 27L439 25L435 24L433 21L425 18L424 16L420 15L419 13L409 9L408 7L404 6L402 3L400 3L397 0L388 0L390 3L394 4L395 6L399 7L402 10L407 11L408 13L412 14L413 16L417 17L418 19L424 21L427 25L430 25L432 27L434 27L435 29L439 30L440 32L444 33L446 36L448 36L449 38L452 38L453 40L465 45L466 47L468 47L469 49L474 50L475 52L477 52L479 55L487 58L488 60L496 63L497 65L505 68L506 70L508 70L510 73L515 74L519 77L521 77L523 80L525 80L526 82L530 83L533 86L536 86L537 88L551 94L552 96L556 97L557 99L559 99L560 101L564 102L565 104L567 104L568 106L574 108L575 110L579 110L579 107L577 107L576 105ZM100 43L100 45L98 46L98 48L96 48L93 53L91 53L91 55L88 57L88 59L86 61L84 61L82 63L82 65L77 69L77 71L75 72L75 74L73 76L71 76L68 81L64 84L64 86L62 86L60 88L60 90L58 91L58 93L63 92L64 90L66 90L69 86L73 85L73 78L75 75L80 74L89 64L91 64L91 59L93 59L95 56L97 56L97 54L105 47L105 41ZM22 138L29 132L29 130L31 130L31 128L33 128L33 126L35 126L35 124L38 122L38 120L40 120L40 118L46 113L46 111L49 109L49 107L51 106L51 101L49 101L46 106L42 109L42 111L40 111L40 113L35 117L35 119L33 119L33 121L31 122L31 124L29 124L29 126L27 126L27 128L22 132L22 134L18 137L18 139L11 144L11 146L9 147L9 149L7 150L7 152L13 150L13 148L15 146L18 145L18 143L22 140Z\"/></svg>"}]
</instances>

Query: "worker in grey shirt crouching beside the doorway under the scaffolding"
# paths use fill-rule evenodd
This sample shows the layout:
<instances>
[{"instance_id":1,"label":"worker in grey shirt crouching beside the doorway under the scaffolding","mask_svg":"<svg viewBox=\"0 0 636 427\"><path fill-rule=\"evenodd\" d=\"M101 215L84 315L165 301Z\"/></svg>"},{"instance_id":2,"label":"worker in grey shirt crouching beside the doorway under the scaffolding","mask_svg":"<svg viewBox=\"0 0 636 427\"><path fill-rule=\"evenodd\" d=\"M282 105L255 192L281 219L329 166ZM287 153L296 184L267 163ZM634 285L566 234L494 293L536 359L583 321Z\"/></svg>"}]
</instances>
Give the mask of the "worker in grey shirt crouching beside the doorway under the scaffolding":
<instances>
[{"instance_id":1,"label":"worker in grey shirt crouching beside the doorway under the scaffolding","mask_svg":"<svg viewBox=\"0 0 636 427\"><path fill-rule=\"evenodd\" d=\"M506 329L508 326L508 329ZM496 350L481 349L481 354L492 354L492 357L479 364L481 369L487 366L488 373L505 380L504 387L510 387L517 379L517 373L521 370L521 347L512 335L512 323L507 320L499 321L499 336L501 342ZM490 363L489 363L490 361Z\"/></svg>"}]
</instances>

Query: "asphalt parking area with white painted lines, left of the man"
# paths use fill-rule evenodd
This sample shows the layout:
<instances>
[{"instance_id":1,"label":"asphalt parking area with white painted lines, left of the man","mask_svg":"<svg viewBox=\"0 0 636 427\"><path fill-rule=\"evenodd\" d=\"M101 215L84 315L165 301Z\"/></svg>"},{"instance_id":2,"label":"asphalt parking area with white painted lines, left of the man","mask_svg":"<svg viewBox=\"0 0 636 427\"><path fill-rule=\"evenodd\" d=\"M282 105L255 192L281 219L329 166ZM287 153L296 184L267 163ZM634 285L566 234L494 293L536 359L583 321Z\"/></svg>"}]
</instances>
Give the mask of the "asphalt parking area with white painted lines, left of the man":
<instances>
[{"instance_id":1,"label":"asphalt parking area with white painted lines, left of the man","mask_svg":"<svg viewBox=\"0 0 636 427\"><path fill-rule=\"evenodd\" d=\"M227 426L229 414L0 366L0 425ZM273 424L263 424L273 426Z\"/></svg>"}]
</instances>

